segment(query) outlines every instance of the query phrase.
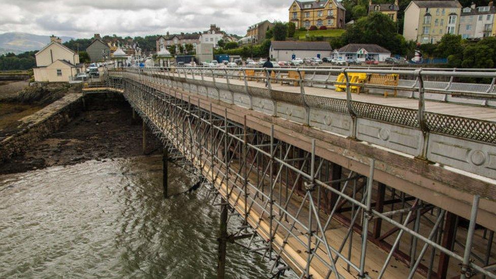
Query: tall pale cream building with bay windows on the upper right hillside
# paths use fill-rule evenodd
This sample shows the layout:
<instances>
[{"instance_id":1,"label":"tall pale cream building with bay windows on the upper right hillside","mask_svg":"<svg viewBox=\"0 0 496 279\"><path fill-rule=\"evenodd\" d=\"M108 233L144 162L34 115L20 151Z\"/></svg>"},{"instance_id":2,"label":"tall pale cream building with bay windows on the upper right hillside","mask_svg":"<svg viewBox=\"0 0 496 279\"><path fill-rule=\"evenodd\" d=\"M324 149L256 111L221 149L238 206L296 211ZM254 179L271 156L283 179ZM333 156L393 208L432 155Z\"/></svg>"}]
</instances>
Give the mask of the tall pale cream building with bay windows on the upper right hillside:
<instances>
[{"instance_id":1,"label":"tall pale cream building with bay windows on the upper right hillside","mask_svg":"<svg viewBox=\"0 0 496 279\"><path fill-rule=\"evenodd\" d=\"M412 1L405 9L403 36L417 43L437 43L445 34L458 34L458 1Z\"/></svg>"}]
</instances>

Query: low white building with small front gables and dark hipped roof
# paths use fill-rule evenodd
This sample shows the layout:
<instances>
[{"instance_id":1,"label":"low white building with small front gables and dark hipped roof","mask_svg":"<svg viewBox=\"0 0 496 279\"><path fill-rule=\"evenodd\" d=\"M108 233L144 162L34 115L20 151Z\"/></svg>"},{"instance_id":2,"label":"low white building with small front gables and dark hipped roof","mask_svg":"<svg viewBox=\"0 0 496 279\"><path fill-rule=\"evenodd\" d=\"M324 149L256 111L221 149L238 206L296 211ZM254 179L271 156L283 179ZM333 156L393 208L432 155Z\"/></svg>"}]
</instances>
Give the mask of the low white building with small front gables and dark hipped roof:
<instances>
[{"instance_id":1,"label":"low white building with small front gables and dark hipped roof","mask_svg":"<svg viewBox=\"0 0 496 279\"><path fill-rule=\"evenodd\" d=\"M345 60L365 61L366 59L374 59L381 62L387 57L391 57L391 51L376 44L348 44L342 48L335 49L332 52L332 56Z\"/></svg>"}]
</instances>

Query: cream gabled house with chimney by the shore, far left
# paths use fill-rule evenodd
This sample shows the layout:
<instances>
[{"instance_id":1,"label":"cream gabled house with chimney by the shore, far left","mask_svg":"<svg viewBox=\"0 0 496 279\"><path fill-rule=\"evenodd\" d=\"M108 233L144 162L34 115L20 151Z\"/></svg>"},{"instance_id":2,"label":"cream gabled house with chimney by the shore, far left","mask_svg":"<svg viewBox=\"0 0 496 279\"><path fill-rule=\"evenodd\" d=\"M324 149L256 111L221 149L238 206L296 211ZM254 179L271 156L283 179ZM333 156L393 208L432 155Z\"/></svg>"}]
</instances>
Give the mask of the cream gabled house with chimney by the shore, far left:
<instances>
[{"instance_id":1,"label":"cream gabled house with chimney by the shore, far left","mask_svg":"<svg viewBox=\"0 0 496 279\"><path fill-rule=\"evenodd\" d=\"M83 71L79 65L79 55L55 36L50 37L50 43L38 51L35 57L35 81L68 82Z\"/></svg>"}]
</instances>

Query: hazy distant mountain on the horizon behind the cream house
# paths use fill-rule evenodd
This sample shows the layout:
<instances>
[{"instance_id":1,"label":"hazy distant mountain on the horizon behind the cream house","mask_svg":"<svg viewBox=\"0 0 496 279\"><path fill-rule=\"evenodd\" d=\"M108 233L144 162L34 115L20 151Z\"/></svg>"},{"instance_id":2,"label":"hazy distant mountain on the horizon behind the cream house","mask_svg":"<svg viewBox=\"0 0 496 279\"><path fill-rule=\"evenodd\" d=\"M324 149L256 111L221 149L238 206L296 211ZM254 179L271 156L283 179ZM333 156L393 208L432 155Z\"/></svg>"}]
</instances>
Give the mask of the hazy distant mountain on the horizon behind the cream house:
<instances>
[{"instance_id":1,"label":"hazy distant mountain on the horizon behind the cream house","mask_svg":"<svg viewBox=\"0 0 496 279\"><path fill-rule=\"evenodd\" d=\"M70 41L71 37L60 37L62 42ZM0 52L10 50L14 53L39 50L50 42L50 36L34 35L21 32L0 34Z\"/></svg>"}]
</instances>

